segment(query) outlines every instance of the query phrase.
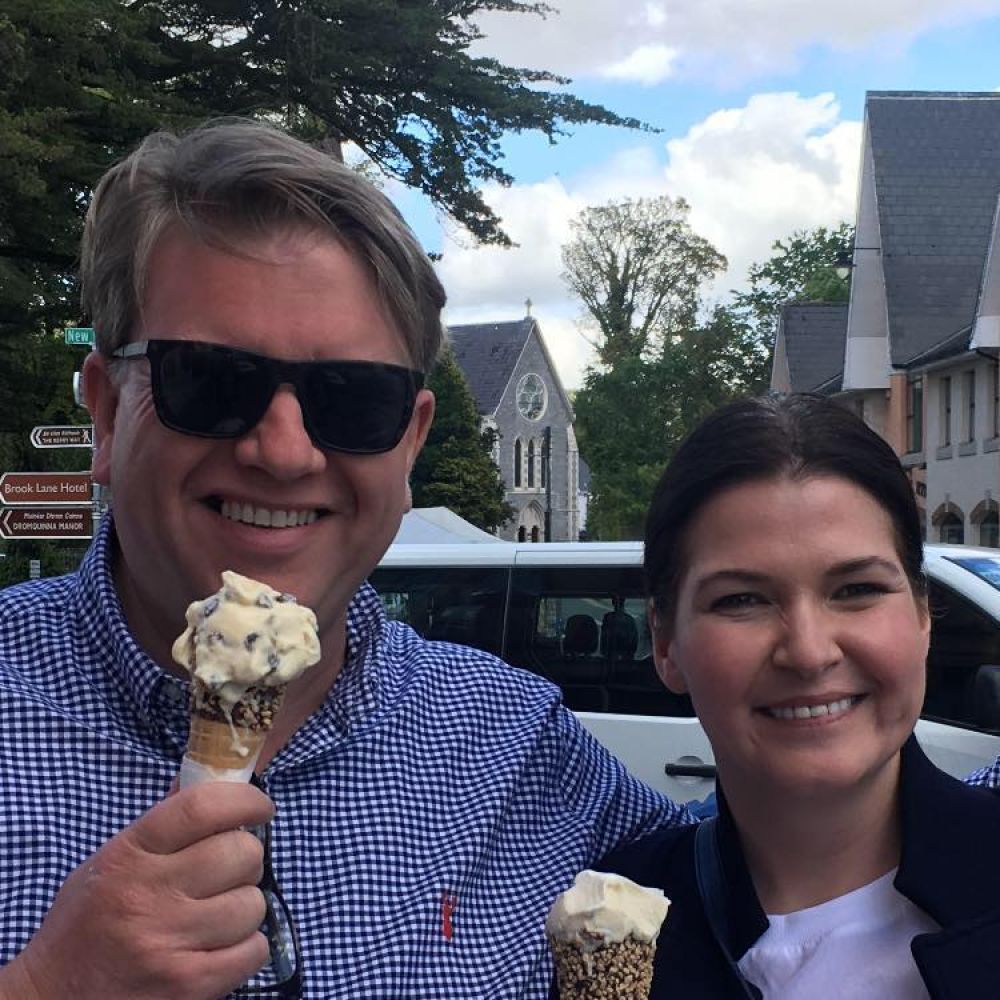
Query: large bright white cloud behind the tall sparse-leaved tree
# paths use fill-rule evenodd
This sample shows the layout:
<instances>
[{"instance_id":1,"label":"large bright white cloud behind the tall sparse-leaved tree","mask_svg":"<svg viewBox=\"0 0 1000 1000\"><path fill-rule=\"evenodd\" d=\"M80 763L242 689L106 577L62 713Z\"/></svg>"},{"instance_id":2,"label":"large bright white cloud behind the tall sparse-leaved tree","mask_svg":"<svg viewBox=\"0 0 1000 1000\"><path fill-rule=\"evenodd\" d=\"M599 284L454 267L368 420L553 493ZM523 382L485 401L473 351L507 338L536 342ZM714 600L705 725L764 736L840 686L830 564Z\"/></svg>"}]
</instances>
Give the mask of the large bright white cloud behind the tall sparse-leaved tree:
<instances>
[{"instance_id":1,"label":"large bright white cloud behind the tall sparse-leaved tree","mask_svg":"<svg viewBox=\"0 0 1000 1000\"><path fill-rule=\"evenodd\" d=\"M861 125L840 119L830 94L758 94L717 111L657 148L635 147L572 178L489 187L486 200L519 245L510 250L446 241L438 271L446 319L517 319L530 298L567 388L580 384L592 349L582 307L562 282L560 248L583 208L612 199L668 194L691 205L691 225L729 259L709 290L724 298L753 261L797 229L853 221Z\"/></svg>"}]
</instances>

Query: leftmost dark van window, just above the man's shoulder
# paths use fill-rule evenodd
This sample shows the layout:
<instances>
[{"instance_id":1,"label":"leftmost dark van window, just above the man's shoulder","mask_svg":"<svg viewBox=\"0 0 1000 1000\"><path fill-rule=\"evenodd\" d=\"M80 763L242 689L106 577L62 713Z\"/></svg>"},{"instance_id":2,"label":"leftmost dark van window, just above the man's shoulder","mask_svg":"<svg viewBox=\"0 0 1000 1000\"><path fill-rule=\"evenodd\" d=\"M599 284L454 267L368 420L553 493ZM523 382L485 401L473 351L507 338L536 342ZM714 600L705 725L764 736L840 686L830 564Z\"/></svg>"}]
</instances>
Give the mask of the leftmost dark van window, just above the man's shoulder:
<instances>
[{"instance_id":1,"label":"leftmost dark van window, just above the man's shoulder","mask_svg":"<svg viewBox=\"0 0 1000 1000\"><path fill-rule=\"evenodd\" d=\"M506 569L376 569L370 582L386 615L425 639L475 646L496 656L503 648Z\"/></svg>"}]
</instances>

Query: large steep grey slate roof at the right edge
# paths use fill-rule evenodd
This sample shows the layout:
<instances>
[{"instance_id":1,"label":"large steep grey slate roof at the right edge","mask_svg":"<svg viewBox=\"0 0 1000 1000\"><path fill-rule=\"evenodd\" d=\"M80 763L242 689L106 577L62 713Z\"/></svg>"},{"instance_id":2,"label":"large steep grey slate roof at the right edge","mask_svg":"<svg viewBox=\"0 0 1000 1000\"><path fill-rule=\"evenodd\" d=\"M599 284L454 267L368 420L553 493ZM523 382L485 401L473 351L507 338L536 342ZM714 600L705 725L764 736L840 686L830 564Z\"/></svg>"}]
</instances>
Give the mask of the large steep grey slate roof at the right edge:
<instances>
[{"instance_id":1,"label":"large steep grey slate roof at the right edge","mask_svg":"<svg viewBox=\"0 0 1000 1000\"><path fill-rule=\"evenodd\" d=\"M1000 94L872 91L867 112L891 361L903 366L975 318L1000 193Z\"/></svg>"}]
</instances>

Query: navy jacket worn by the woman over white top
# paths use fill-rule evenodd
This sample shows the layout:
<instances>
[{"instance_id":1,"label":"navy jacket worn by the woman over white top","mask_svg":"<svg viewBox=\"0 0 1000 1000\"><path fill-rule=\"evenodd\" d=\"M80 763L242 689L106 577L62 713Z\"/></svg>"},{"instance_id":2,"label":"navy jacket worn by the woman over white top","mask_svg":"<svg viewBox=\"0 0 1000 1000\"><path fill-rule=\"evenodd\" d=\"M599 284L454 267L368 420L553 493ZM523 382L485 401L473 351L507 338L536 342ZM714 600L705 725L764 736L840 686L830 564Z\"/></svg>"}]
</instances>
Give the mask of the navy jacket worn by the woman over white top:
<instances>
[{"instance_id":1,"label":"navy jacket worn by the woman over white top","mask_svg":"<svg viewBox=\"0 0 1000 1000\"><path fill-rule=\"evenodd\" d=\"M903 847L896 888L941 931L912 943L932 1000L1000 998L1000 795L970 788L935 767L912 736L903 747ZM729 889L729 947L739 961L767 929L725 796L719 849ZM709 929L694 873L695 827L663 830L605 858L601 867L663 889L650 1000L743 1000ZM831 997L836 995L831 984Z\"/></svg>"}]
</instances>

